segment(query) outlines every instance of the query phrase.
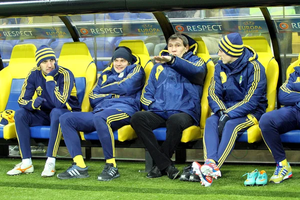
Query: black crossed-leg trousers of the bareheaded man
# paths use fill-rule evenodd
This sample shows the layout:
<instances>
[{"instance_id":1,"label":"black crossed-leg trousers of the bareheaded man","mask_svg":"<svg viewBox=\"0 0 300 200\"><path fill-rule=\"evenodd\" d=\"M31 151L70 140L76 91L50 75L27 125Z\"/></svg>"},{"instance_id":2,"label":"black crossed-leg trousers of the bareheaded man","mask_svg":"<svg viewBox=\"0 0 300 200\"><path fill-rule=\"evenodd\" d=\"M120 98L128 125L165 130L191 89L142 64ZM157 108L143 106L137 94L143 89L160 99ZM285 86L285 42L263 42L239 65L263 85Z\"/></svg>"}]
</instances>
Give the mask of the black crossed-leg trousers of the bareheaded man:
<instances>
[{"instance_id":1,"label":"black crossed-leg trousers of the bareheaded man","mask_svg":"<svg viewBox=\"0 0 300 200\"><path fill-rule=\"evenodd\" d=\"M194 124L194 119L187 113L175 113L164 119L151 111L135 112L130 120L138 138L144 143L159 170L172 164L171 157L179 144L182 131ZM152 130L166 127L166 138L161 146Z\"/></svg>"}]
</instances>

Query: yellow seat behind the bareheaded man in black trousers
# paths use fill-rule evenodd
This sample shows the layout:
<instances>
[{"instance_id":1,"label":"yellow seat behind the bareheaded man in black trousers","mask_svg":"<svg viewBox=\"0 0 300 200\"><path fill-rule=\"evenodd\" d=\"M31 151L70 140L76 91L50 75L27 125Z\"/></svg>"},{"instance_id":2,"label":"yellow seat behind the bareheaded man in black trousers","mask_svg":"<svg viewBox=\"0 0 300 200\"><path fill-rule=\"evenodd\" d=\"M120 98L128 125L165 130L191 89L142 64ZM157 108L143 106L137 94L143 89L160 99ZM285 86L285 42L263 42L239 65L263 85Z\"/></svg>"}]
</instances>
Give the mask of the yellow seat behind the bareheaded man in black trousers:
<instances>
[{"instance_id":1,"label":"yellow seat behind the bareheaded man in black trousers","mask_svg":"<svg viewBox=\"0 0 300 200\"><path fill-rule=\"evenodd\" d=\"M195 139L200 139L203 137L204 125L206 119L210 116L210 107L208 105L208 87L210 84L211 77L213 75L214 64L210 58L207 47L202 40L202 38L194 38L194 40L198 43L197 46L197 56L201 57L207 66L207 74L205 76L203 92L201 97L201 116L200 116L200 125L195 126L192 125L182 132L181 142L188 142Z\"/></svg>"}]
</instances>

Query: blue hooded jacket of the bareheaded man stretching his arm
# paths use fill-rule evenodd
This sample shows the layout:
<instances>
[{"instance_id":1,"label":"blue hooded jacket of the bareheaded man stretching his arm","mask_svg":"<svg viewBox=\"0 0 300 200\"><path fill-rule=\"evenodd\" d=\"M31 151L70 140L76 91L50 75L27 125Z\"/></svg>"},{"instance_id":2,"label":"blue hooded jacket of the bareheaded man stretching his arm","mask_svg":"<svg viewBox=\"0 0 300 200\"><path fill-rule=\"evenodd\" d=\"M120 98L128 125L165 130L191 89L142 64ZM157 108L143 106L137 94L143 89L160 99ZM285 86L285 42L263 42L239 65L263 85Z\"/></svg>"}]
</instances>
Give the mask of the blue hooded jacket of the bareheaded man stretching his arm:
<instances>
[{"instance_id":1,"label":"blue hooded jacket of the bareheaded man stretching his arm","mask_svg":"<svg viewBox=\"0 0 300 200\"><path fill-rule=\"evenodd\" d=\"M199 124L203 82L207 73L204 60L194 53L197 43L190 37L190 49L182 57L175 56L172 64L157 63L142 90L141 105L164 119L179 112L192 116L195 125ZM161 55L168 55L167 47Z\"/></svg>"}]
</instances>

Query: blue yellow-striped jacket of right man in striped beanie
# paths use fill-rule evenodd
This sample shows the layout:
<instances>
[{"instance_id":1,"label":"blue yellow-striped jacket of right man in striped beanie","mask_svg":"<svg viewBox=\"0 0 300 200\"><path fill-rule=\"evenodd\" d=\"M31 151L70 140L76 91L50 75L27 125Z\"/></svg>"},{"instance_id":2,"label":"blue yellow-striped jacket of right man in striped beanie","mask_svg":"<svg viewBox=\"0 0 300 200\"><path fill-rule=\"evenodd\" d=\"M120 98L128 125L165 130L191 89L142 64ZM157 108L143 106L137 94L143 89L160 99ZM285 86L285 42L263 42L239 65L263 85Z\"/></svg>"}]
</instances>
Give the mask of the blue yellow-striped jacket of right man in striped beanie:
<instances>
[{"instance_id":1,"label":"blue yellow-striped jacket of right man in striped beanie","mask_svg":"<svg viewBox=\"0 0 300 200\"><path fill-rule=\"evenodd\" d=\"M217 62L208 89L208 104L214 113L225 110L231 119L250 113L259 120L267 99L265 70L257 58L257 53L244 45L234 62Z\"/></svg>"}]
</instances>

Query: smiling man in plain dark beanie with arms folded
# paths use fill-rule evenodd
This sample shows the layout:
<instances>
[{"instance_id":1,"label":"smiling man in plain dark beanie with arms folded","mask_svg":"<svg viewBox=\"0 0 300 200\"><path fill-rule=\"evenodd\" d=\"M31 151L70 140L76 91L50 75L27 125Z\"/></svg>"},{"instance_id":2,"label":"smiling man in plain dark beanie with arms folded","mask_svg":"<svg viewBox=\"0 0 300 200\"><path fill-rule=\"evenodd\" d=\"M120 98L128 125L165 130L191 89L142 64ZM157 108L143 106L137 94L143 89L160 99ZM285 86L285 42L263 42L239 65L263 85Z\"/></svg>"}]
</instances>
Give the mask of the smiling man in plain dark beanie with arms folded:
<instances>
[{"instance_id":1,"label":"smiling man in plain dark beanie with arms folded","mask_svg":"<svg viewBox=\"0 0 300 200\"><path fill-rule=\"evenodd\" d=\"M77 131L97 131L106 163L98 180L119 176L115 163L113 131L128 125L132 114L140 110L140 94L145 73L139 58L125 46L115 49L111 65L105 68L92 91L89 102L92 112L65 113L59 117L65 145L74 162L60 179L89 177Z\"/></svg>"}]
</instances>

